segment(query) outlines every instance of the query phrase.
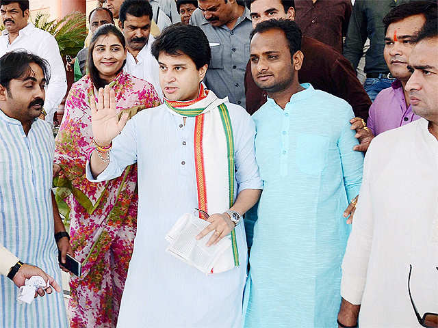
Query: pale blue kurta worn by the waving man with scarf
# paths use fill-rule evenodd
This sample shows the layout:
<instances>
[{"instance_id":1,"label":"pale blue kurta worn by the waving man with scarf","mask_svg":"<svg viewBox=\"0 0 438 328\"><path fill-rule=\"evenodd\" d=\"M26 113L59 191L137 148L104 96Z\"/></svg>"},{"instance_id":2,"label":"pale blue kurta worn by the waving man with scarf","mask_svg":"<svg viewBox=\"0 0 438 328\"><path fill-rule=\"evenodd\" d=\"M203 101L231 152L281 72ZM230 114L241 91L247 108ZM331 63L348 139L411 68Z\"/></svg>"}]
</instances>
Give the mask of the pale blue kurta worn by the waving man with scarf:
<instances>
[{"instance_id":1,"label":"pale blue kurta worn by the waving man with scarf","mask_svg":"<svg viewBox=\"0 0 438 328\"><path fill-rule=\"evenodd\" d=\"M238 191L261 189L254 122L242 107L226 105L233 126L235 185ZM226 273L207 276L166 252L166 233L198 206L194 122L187 118L183 125L183 117L166 105L141 111L114 139L110 164L98 176L114 178L138 163L137 235L118 327L242 326L247 254L243 224L235 228L240 267ZM88 165L87 170L91 180Z\"/></svg>"}]
</instances>

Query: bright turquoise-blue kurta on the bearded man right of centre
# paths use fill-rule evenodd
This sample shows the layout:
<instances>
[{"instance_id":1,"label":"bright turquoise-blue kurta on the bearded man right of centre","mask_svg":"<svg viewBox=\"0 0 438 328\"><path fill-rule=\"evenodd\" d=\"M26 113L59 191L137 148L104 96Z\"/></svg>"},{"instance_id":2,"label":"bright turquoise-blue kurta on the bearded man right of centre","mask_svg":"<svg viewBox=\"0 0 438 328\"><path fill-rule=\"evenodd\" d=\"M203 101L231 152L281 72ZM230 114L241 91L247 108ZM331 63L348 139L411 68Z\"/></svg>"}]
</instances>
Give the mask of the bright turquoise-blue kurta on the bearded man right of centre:
<instances>
[{"instance_id":1,"label":"bright turquoise-blue kurta on the bearded man right of centre","mask_svg":"<svg viewBox=\"0 0 438 328\"><path fill-rule=\"evenodd\" d=\"M268 98L253 115L264 182L250 252L245 327L337 327L341 263L363 154L347 102L326 92Z\"/></svg>"}]
</instances>

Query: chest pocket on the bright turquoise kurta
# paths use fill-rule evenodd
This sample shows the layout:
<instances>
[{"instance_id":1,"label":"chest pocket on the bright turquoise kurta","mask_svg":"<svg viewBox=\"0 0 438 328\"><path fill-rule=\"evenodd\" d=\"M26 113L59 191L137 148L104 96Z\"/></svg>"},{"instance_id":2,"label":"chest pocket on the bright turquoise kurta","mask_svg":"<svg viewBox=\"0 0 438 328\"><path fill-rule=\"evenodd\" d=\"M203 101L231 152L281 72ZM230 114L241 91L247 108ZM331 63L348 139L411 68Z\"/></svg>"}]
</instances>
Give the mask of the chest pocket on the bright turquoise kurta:
<instances>
[{"instance_id":1,"label":"chest pocket on the bright turquoise kurta","mask_svg":"<svg viewBox=\"0 0 438 328\"><path fill-rule=\"evenodd\" d=\"M328 137L300 134L296 138L296 166L305 174L318 175L326 166L328 150Z\"/></svg>"}]
</instances>

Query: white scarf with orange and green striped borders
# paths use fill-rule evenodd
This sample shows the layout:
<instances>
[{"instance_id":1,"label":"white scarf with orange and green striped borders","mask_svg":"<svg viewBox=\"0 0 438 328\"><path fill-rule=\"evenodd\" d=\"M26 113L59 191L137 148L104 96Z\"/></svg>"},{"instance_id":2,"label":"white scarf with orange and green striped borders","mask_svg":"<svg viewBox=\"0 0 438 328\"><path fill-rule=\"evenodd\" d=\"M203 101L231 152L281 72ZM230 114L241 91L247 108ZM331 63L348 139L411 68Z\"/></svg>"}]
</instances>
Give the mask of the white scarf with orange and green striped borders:
<instances>
[{"instance_id":1,"label":"white scarf with orange and green striped borders","mask_svg":"<svg viewBox=\"0 0 438 328\"><path fill-rule=\"evenodd\" d=\"M204 90L202 84L195 100L181 102L164 99L173 113L195 118L194 163L198 208L206 213L224 213L234 203L234 138L224 101L211 90ZM214 273L239 265L234 230L231 231L230 242L233 255L222 257L215 264Z\"/></svg>"}]
</instances>

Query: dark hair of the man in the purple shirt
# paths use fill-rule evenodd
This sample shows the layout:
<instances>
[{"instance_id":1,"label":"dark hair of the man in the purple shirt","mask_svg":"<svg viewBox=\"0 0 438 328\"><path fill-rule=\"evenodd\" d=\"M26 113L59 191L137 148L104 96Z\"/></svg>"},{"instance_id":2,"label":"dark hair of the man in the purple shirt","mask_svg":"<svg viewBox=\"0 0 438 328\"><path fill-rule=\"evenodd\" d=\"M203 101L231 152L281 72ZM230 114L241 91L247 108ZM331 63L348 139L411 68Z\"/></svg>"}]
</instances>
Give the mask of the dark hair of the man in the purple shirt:
<instances>
[{"instance_id":1,"label":"dark hair of the man in the purple shirt","mask_svg":"<svg viewBox=\"0 0 438 328\"><path fill-rule=\"evenodd\" d=\"M431 19L437 18L437 2L436 1L415 1L403 3L397 7L391 9L383 18L383 24L385 24L385 33L390 24L399 22L404 18L414 15L424 15L426 22Z\"/></svg>"}]
</instances>

